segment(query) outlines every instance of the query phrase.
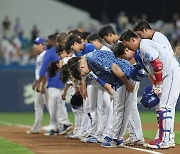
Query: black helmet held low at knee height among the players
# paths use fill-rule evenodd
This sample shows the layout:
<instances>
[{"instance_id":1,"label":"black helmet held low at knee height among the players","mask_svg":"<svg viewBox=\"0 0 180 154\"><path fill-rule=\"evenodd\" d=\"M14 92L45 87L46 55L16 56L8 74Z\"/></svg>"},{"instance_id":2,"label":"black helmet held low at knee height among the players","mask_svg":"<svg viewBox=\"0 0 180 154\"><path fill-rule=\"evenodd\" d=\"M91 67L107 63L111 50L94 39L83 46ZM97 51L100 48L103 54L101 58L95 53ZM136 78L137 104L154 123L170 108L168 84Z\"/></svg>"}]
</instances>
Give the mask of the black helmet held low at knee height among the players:
<instances>
[{"instance_id":1,"label":"black helmet held low at knee height among the players","mask_svg":"<svg viewBox=\"0 0 180 154\"><path fill-rule=\"evenodd\" d=\"M83 105L83 97L82 95L78 92L74 94L70 100L70 103L72 105L72 108L78 109Z\"/></svg>"}]
</instances>

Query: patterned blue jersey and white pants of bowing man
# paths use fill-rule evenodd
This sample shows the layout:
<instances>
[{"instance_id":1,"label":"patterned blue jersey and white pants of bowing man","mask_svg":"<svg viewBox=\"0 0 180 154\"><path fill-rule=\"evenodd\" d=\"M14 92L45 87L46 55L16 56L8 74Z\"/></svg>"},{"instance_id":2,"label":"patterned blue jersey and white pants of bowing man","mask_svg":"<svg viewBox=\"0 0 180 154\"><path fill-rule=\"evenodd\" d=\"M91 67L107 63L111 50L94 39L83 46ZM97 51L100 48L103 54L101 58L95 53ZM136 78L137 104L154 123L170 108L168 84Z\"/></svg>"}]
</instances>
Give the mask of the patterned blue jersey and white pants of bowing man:
<instances>
[{"instance_id":1,"label":"patterned blue jersey and white pants of bowing man","mask_svg":"<svg viewBox=\"0 0 180 154\"><path fill-rule=\"evenodd\" d=\"M107 136L111 139L120 140L117 143L119 146L123 143L123 137L126 132L129 121L129 113L132 109L132 102L134 93L126 91L125 85L122 81L112 73L111 68L113 64L117 64L124 74L129 77L133 66L126 60L116 58L110 51L96 50L86 55L86 60L91 70L104 81L111 84L116 91L113 94L113 118L111 119L111 128ZM130 82L135 84L134 81ZM102 143L106 146L106 142Z\"/></svg>"}]
</instances>

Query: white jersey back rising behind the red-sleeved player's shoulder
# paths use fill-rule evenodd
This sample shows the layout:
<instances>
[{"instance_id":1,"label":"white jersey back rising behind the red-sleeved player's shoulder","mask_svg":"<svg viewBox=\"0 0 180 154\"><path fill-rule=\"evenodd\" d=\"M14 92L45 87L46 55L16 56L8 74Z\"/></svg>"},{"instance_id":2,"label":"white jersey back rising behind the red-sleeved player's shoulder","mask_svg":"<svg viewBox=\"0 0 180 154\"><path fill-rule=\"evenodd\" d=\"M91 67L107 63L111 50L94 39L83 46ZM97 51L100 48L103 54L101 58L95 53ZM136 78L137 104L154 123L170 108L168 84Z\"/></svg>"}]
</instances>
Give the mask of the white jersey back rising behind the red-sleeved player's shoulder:
<instances>
[{"instance_id":1,"label":"white jersey back rising behind the red-sleeved player's shoulder","mask_svg":"<svg viewBox=\"0 0 180 154\"><path fill-rule=\"evenodd\" d=\"M157 42L159 44L161 44L163 47L165 47L172 55L174 55L174 51L172 49L172 46L169 42L169 40L167 39L167 37L160 33L160 32L155 32L153 37L152 37L152 41Z\"/></svg>"}]
</instances>

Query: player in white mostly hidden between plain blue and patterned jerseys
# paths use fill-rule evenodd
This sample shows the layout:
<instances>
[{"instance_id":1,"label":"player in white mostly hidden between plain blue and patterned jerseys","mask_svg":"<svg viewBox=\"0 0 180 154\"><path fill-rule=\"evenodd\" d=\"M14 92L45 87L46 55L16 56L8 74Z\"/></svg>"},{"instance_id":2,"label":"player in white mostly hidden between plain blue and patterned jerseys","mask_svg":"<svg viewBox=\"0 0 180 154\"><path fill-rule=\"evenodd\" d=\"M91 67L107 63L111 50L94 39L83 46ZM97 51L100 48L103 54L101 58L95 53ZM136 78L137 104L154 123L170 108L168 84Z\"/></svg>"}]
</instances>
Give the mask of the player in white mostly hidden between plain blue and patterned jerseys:
<instances>
[{"instance_id":1,"label":"player in white mostly hidden between plain blue and patterned jerseys","mask_svg":"<svg viewBox=\"0 0 180 154\"><path fill-rule=\"evenodd\" d=\"M89 35L87 40L98 50L111 51L108 47L101 43L101 38L97 33ZM111 102L111 96L104 88L102 88L99 84L96 84L96 87L98 89L98 101L96 101L98 118L95 136L98 141L102 142L107 134L108 127L111 126L111 123L109 121L112 117L113 103Z\"/></svg>"}]
</instances>

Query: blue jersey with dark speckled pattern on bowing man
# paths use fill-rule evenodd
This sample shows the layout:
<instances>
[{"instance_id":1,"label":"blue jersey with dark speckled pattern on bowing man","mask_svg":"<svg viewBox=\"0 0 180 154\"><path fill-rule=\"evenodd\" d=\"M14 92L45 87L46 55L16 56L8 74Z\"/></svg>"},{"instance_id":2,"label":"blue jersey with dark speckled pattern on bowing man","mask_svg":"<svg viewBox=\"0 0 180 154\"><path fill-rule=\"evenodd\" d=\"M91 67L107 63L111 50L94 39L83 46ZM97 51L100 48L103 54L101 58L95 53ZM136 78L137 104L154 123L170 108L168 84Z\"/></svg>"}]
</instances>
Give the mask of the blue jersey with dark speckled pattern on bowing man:
<instances>
[{"instance_id":1,"label":"blue jersey with dark speckled pattern on bowing man","mask_svg":"<svg viewBox=\"0 0 180 154\"><path fill-rule=\"evenodd\" d=\"M128 61L116 58L110 51L96 50L87 54L86 60L91 70L103 81L106 81L112 85L112 87L115 89L121 87L123 82L112 73L112 65L117 64L127 78L129 77L129 73L133 68Z\"/></svg>"}]
</instances>

